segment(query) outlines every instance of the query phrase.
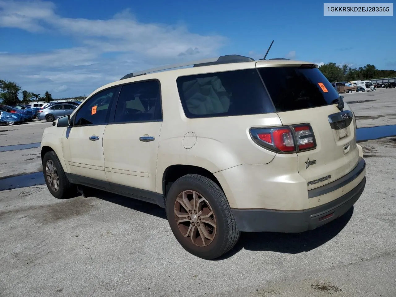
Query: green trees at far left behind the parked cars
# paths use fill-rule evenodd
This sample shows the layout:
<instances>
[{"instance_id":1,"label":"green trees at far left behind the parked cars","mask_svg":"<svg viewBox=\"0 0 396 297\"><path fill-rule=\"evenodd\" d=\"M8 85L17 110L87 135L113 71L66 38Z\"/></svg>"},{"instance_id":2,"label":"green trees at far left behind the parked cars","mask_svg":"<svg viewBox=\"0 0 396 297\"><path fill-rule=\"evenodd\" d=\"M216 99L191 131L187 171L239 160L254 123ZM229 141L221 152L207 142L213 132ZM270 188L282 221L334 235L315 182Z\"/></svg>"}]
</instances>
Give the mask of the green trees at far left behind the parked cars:
<instances>
[{"instance_id":1,"label":"green trees at far left behind the parked cars","mask_svg":"<svg viewBox=\"0 0 396 297\"><path fill-rule=\"evenodd\" d=\"M40 94L32 93L27 90L23 90L18 86L16 82L10 82L8 80L0 80L0 99L4 105L16 105L16 104L29 104L33 98L36 101L44 101L46 103L51 102L52 95L46 91L44 96L40 97ZM22 100L19 100L18 95L22 93Z\"/></svg>"}]
</instances>

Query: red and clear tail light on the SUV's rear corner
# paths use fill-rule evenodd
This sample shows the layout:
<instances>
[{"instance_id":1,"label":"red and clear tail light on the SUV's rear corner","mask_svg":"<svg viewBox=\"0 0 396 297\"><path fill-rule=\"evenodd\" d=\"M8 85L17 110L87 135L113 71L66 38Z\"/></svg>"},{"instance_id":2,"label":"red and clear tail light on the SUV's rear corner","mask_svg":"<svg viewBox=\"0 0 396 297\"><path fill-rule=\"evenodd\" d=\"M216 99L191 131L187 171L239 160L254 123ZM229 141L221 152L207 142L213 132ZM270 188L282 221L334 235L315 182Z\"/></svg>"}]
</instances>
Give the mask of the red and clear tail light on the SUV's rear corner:
<instances>
[{"instance_id":1,"label":"red and clear tail light on the SUV's rear corner","mask_svg":"<svg viewBox=\"0 0 396 297\"><path fill-rule=\"evenodd\" d=\"M316 148L316 140L309 124L272 128L251 128L255 143L281 154L295 153Z\"/></svg>"}]
</instances>

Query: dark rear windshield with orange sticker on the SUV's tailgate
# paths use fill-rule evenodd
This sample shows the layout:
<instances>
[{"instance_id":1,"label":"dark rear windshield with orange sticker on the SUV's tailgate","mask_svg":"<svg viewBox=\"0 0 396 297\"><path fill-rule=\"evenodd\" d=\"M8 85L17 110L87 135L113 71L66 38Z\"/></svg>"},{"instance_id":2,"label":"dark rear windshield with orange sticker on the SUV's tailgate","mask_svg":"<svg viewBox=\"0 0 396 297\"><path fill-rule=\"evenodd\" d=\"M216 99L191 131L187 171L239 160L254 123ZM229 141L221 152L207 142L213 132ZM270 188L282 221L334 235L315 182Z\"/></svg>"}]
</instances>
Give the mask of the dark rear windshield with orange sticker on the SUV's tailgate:
<instances>
[{"instance_id":1,"label":"dark rear windshield with orange sticker on the SUV's tailgate","mask_svg":"<svg viewBox=\"0 0 396 297\"><path fill-rule=\"evenodd\" d=\"M337 91L317 68L259 68L277 112L333 104Z\"/></svg>"}]
</instances>

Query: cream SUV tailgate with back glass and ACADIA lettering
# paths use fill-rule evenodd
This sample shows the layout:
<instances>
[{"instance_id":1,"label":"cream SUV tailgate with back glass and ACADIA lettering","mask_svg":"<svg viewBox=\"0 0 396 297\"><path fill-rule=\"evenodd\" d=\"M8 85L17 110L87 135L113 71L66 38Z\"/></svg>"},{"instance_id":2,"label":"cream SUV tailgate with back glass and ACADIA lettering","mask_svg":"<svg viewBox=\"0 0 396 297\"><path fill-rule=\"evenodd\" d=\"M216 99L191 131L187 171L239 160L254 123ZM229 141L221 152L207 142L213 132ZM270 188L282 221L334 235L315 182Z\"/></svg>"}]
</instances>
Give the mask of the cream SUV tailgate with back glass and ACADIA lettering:
<instances>
[{"instance_id":1,"label":"cream SUV tailgate with back glass and ACADIA lettering","mask_svg":"<svg viewBox=\"0 0 396 297\"><path fill-rule=\"evenodd\" d=\"M299 66L259 72L282 124L312 127L316 148L297 152L299 174L307 180L308 190L350 172L359 160L356 124L350 110L339 109L341 98L320 70Z\"/></svg>"}]
</instances>

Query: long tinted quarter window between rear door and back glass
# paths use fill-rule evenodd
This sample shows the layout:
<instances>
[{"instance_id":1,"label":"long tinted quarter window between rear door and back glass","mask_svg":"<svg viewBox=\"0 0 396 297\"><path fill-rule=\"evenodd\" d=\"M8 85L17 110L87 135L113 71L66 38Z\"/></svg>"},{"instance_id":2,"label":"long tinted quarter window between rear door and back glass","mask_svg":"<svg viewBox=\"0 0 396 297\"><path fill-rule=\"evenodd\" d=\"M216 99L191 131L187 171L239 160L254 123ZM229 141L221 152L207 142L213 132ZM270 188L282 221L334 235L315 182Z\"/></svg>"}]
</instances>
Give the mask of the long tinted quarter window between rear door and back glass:
<instances>
[{"instance_id":1,"label":"long tinted quarter window between rear door and back glass","mask_svg":"<svg viewBox=\"0 0 396 297\"><path fill-rule=\"evenodd\" d=\"M274 112L256 69L180 76L176 82L187 118Z\"/></svg>"}]
</instances>

